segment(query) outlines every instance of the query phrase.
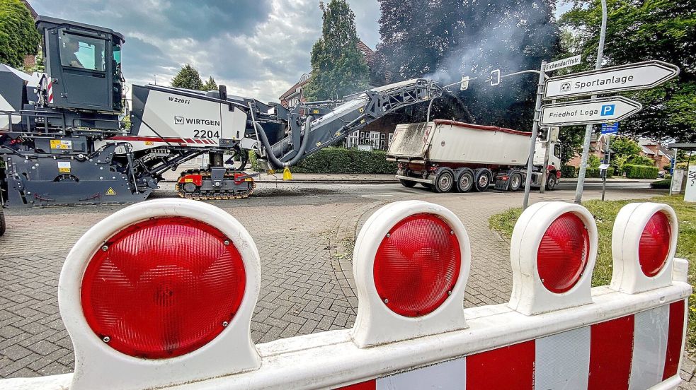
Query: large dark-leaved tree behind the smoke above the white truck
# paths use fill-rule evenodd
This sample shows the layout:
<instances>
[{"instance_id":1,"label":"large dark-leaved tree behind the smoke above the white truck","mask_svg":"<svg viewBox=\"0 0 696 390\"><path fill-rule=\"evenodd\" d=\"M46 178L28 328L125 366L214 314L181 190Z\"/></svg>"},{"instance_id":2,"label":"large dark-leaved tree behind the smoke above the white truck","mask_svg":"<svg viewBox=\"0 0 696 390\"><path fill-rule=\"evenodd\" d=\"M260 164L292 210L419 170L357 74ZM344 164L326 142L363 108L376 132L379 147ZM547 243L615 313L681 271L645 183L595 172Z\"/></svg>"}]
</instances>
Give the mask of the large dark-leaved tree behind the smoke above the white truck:
<instances>
[{"instance_id":1,"label":"large dark-leaved tree behind the smoke above the white truck","mask_svg":"<svg viewBox=\"0 0 696 390\"><path fill-rule=\"evenodd\" d=\"M492 87L486 80L493 69L539 69L559 52L554 1L380 0L380 8L377 52L391 81L478 78L468 90L435 101L431 117L530 129L537 76L506 78ZM419 108L413 111L425 111Z\"/></svg>"}]
</instances>

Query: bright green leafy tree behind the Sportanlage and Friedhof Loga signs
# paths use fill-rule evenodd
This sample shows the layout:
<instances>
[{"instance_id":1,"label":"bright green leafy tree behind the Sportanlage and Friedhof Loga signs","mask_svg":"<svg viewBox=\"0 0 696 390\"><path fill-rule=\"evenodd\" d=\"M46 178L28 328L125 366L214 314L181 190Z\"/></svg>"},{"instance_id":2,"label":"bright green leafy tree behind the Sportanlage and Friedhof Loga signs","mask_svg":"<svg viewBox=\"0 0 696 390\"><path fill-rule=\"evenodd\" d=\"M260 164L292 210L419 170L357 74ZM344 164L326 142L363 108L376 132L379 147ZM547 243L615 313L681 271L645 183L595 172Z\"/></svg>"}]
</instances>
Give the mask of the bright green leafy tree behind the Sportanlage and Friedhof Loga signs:
<instances>
[{"instance_id":1,"label":"bright green leafy tree behind the Sportanlage and Friedhof Loga signs","mask_svg":"<svg viewBox=\"0 0 696 390\"><path fill-rule=\"evenodd\" d=\"M677 81L624 94L643 110L622 123L622 133L695 142L696 1L607 0L607 9L604 66L660 59L681 69ZM574 32L575 54L583 54L586 69L595 63L601 17L599 0L576 0L560 19Z\"/></svg>"}]
</instances>

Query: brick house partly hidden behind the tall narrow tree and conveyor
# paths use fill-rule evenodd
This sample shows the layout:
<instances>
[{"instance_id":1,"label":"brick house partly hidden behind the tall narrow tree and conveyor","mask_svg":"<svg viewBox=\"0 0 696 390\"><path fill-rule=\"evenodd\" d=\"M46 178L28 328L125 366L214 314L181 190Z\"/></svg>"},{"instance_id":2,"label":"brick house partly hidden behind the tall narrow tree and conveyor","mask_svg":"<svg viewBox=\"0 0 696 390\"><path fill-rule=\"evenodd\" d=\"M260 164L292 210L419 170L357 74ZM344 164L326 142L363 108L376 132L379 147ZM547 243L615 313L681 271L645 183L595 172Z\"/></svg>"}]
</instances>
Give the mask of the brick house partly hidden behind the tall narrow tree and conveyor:
<instances>
[{"instance_id":1,"label":"brick house partly hidden behind the tall narrow tree and conveyor","mask_svg":"<svg viewBox=\"0 0 696 390\"><path fill-rule=\"evenodd\" d=\"M368 85L370 85L370 87L384 85L384 80L380 80L379 76L373 71L376 61L379 60L377 58L377 53L365 45L363 41L358 41L358 49L363 53L365 61L367 61L367 66L370 67ZM295 107L301 102L306 102L307 99L304 98L303 87L309 82L309 76L309 73L304 73L295 85L292 85L283 95L280 95L280 98L278 98L280 104L284 107ZM389 143L392 141L392 136L394 136L394 129L396 129L397 124L398 122L395 116L384 116L368 124L363 129L360 129L360 131L355 131L355 133L350 134L343 145L348 148L372 146L372 148L375 149L387 150L387 148L389 148Z\"/></svg>"}]
</instances>

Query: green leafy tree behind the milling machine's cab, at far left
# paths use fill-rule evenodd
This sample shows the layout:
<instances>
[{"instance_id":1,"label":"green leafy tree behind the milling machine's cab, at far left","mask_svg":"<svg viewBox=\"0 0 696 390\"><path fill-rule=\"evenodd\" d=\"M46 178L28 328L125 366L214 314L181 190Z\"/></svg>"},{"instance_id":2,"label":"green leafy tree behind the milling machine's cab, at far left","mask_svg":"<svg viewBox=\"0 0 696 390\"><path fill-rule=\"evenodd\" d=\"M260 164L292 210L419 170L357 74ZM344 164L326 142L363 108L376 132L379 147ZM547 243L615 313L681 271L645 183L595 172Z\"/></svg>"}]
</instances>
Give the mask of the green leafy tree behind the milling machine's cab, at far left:
<instances>
[{"instance_id":1,"label":"green leafy tree behind the milling machine's cab, at far left","mask_svg":"<svg viewBox=\"0 0 696 390\"><path fill-rule=\"evenodd\" d=\"M19 0L0 0L0 63L19 68L38 52L40 36L31 13Z\"/></svg>"}]
</instances>

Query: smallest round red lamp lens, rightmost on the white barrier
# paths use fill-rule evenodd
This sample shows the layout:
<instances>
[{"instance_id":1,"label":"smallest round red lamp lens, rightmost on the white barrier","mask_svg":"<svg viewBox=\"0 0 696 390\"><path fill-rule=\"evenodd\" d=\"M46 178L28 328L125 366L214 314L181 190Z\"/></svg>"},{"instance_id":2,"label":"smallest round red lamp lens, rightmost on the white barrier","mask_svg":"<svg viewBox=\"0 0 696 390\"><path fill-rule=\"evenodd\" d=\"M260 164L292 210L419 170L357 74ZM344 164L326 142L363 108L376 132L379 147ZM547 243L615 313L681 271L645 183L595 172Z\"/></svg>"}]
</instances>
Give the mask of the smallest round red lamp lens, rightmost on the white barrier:
<instances>
[{"instance_id":1,"label":"smallest round red lamp lens, rightmost on the white barrier","mask_svg":"<svg viewBox=\"0 0 696 390\"><path fill-rule=\"evenodd\" d=\"M672 228L665 213L657 212L646 223L638 244L638 261L645 276L656 276L667 261Z\"/></svg>"}]
</instances>

